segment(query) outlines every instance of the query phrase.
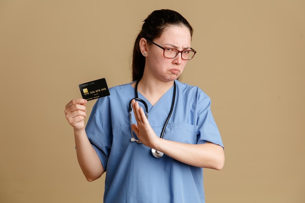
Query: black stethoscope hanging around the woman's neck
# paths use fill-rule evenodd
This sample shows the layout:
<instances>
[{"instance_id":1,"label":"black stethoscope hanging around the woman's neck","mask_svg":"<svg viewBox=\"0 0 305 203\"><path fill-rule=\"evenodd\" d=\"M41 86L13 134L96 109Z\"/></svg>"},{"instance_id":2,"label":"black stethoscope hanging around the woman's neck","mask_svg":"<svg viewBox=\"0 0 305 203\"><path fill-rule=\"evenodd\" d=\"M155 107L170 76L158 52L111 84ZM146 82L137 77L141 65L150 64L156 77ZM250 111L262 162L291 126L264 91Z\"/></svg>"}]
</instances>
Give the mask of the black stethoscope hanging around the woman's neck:
<instances>
[{"instance_id":1,"label":"black stethoscope hanging around the woman's neck","mask_svg":"<svg viewBox=\"0 0 305 203\"><path fill-rule=\"evenodd\" d=\"M141 102L144 107L145 107L145 115L146 115L146 118L148 119L148 106L146 104L146 102L142 99L140 99L138 97L138 84L139 84L139 81L140 80L137 80L136 83L135 83L135 88L134 88L134 92L135 92L135 98L133 98L134 100L138 101L138 102ZM167 123L169 122L170 120L170 117L172 115L172 110L173 110L173 107L174 107L174 104L175 104L175 96L176 96L176 83L175 81L173 82L173 93L172 93L172 106L171 106L171 111L166 119L166 122L163 126L163 129L162 129L162 132L161 132L161 135L160 135L160 138L162 139L163 138L163 134L164 134L164 131L165 131L165 128L167 126ZM132 99L132 100L133 100ZM130 119L130 131L131 131L131 134L132 134L132 138L130 139L131 142L136 142L136 143L139 143L139 144L142 144L142 142L138 139L135 139L134 135L133 135L133 129L132 129L132 100L130 100L129 102L129 119ZM160 158L163 156L163 152L161 151L158 151L158 150L155 150L152 148L151 150L152 152L152 155L155 157L155 158Z\"/></svg>"}]
</instances>

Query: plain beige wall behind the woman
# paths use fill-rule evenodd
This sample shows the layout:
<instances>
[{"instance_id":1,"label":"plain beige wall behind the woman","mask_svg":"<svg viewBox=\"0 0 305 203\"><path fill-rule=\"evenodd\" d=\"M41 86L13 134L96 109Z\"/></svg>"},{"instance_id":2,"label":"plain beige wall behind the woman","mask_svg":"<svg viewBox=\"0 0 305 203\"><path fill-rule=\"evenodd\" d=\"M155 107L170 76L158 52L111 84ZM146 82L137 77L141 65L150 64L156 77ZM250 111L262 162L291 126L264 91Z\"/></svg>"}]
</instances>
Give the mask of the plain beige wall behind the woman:
<instances>
[{"instance_id":1,"label":"plain beige wall behind the woman","mask_svg":"<svg viewBox=\"0 0 305 203\"><path fill-rule=\"evenodd\" d=\"M210 95L226 146L207 203L305 202L305 1L1 0L0 203L102 202L64 106L80 83L131 81L133 40L161 8L194 27L182 81Z\"/></svg>"}]
</instances>

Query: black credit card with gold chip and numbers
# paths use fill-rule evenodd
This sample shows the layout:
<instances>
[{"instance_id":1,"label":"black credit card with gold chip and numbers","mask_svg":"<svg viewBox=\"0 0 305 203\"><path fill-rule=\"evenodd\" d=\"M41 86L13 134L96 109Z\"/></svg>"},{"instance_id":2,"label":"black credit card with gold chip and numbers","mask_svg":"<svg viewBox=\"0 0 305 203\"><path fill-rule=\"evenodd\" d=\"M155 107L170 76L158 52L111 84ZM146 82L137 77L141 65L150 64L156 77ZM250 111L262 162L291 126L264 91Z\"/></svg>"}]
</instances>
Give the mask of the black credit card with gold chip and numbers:
<instances>
[{"instance_id":1,"label":"black credit card with gold chip and numbers","mask_svg":"<svg viewBox=\"0 0 305 203\"><path fill-rule=\"evenodd\" d=\"M79 84L78 87L83 99L87 101L110 95L105 78Z\"/></svg>"}]
</instances>

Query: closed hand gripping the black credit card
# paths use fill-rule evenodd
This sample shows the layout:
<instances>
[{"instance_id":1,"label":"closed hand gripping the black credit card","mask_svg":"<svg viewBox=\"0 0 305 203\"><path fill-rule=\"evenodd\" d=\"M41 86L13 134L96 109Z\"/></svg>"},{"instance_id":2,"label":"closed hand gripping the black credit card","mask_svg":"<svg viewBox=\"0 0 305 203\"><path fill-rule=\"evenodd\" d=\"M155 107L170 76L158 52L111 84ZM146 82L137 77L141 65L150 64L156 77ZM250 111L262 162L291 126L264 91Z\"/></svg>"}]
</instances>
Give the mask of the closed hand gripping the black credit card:
<instances>
[{"instance_id":1,"label":"closed hand gripping the black credit card","mask_svg":"<svg viewBox=\"0 0 305 203\"><path fill-rule=\"evenodd\" d=\"M66 119L74 129L85 129L86 105L86 99L73 99L66 105Z\"/></svg>"}]
</instances>

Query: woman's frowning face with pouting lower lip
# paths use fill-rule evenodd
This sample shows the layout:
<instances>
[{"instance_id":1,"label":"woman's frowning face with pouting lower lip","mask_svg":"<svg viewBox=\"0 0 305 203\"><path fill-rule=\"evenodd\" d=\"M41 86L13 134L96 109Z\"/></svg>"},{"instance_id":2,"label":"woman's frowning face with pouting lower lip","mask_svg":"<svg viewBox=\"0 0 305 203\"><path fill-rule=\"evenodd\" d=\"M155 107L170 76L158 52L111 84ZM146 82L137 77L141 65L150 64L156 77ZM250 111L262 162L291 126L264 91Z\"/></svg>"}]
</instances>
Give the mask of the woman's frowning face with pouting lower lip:
<instances>
[{"instance_id":1,"label":"woman's frowning face with pouting lower lip","mask_svg":"<svg viewBox=\"0 0 305 203\"><path fill-rule=\"evenodd\" d=\"M179 51L191 48L191 33L186 26L168 26L162 35L152 40L154 43L167 48L175 48ZM146 43L146 60L144 75L161 81L173 81L182 74L188 60L181 58L179 53L175 58L163 56L163 49L150 43Z\"/></svg>"}]
</instances>

